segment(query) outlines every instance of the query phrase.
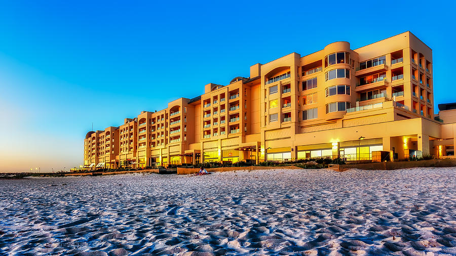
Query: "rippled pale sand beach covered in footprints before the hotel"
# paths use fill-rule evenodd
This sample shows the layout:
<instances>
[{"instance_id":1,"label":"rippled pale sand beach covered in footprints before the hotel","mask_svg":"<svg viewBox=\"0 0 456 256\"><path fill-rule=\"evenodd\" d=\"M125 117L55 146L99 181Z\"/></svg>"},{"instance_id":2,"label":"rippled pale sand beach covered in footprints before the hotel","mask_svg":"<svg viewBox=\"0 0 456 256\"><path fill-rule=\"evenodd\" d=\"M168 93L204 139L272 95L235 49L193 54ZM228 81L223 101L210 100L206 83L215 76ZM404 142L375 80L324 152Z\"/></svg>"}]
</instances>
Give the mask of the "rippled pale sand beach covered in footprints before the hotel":
<instances>
[{"instance_id":1,"label":"rippled pale sand beach covered in footprints before the hotel","mask_svg":"<svg viewBox=\"0 0 456 256\"><path fill-rule=\"evenodd\" d=\"M456 254L456 168L0 180L0 254Z\"/></svg>"}]
</instances>

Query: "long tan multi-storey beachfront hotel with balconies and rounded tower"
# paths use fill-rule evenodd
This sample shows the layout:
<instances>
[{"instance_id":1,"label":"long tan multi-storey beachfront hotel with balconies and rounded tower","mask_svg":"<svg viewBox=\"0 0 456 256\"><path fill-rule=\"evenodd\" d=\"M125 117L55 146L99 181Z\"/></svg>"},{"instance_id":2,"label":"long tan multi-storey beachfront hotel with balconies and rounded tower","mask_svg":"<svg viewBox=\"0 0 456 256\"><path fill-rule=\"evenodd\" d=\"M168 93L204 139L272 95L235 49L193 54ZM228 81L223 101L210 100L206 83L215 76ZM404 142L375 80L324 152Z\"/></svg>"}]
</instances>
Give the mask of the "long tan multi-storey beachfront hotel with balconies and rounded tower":
<instances>
[{"instance_id":1,"label":"long tan multi-storey beachfront hotel with balconies and rounded tower","mask_svg":"<svg viewBox=\"0 0 456 256\"><path fill-rule=\"evenodd\" d=\"M456 110L434 116L432 50L411 32L351 49L333 42L209 83L204 94L87 133L84 164L117 168L315 157L371 159L389 151L452 157Z\"/></svg>"}]
</instances>

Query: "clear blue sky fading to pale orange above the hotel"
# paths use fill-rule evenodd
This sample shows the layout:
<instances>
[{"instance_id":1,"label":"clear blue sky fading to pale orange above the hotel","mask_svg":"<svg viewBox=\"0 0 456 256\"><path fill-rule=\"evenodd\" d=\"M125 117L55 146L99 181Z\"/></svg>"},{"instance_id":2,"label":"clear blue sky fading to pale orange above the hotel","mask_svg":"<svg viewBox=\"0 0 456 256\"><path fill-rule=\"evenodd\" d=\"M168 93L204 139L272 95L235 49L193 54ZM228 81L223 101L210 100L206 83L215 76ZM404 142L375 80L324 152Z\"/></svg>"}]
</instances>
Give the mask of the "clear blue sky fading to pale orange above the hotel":
<instances>
[{"instance_id":1,"label":"clear blue sky fading to pale orange above the hotel","mask_svg":"<svg viewBox=\"0 0 456 256\"><path fill-rule=\"evenodd\" d=\"M333 41L410 30L433 49L436 105L456 101L452 1L0 3L0 172L79 166L92 122L118 126Z\"/></svg>"}]
</instances>

